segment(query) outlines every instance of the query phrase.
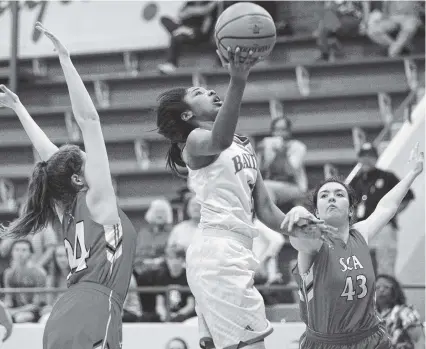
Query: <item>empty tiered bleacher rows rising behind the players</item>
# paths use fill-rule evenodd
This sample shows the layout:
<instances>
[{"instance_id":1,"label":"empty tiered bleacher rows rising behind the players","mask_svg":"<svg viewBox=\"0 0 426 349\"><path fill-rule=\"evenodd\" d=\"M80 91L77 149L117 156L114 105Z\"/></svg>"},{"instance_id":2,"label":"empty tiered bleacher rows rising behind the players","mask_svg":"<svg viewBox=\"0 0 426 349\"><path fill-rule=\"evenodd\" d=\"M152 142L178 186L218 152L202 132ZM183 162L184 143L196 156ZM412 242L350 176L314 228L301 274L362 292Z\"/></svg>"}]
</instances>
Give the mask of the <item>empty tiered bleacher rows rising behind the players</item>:
<instances>
[{"instance_id":1,"label":"empty tiered bleacher rows rising behind the players","mask_svg":"<svg viewBox=\"0 0 426 349\"><path fill-rule=\"evenodd\" d=\"M291 6L292 15L299 16L301 9L312 11L307 6L317 4L292 2ZM270 100L281 101L286 116L293 121L295 138L308 147L307 172L310 184L314 185L323 178L326 162L334 163L343 175L353 167L352 127L362 127L370 140L380 132L383 121L378 93L388 93L396 107L407 96L409 86L403 58L381 57L376 45L363 37L344 43L342 60L315 62L316 44L311 32L316 21L311 17L298 19L298 25L309 34L279 38L267 63L251 73L238 132L255 141L267 135ZM417 41L418 49L409 58L417 64L419 76L424 76L424 42L421 38ZM155 98L167 88L190 86L194 71L221 96L228 84L227 73L217 66L213 47L211 52L207 48L202 56L199 48L189 49L182 58L183 68L171 76L155 70L163 56L163 49L73 56L98 106L120 202L137 228L153 197L173 198L185 185L165 168L168 144L155 132ZM308 96L302 96L297 86L295 69L300 65L310 76ZM0 71L5 71L5 67L7 62L0 61ZM56 144L70 142L66 127L70 101L57 57L23 59L19 67L33 75L21 82L19 90L30 114ZM140 139L148 143L148 169L137 161L135 142ZM6 109L0 109L0 149L0 177L13 181L16 197L20 198L25 193L35 154L19 120ZM0 221L13 214L0 212Z\"/></svg>"}]
</instances>

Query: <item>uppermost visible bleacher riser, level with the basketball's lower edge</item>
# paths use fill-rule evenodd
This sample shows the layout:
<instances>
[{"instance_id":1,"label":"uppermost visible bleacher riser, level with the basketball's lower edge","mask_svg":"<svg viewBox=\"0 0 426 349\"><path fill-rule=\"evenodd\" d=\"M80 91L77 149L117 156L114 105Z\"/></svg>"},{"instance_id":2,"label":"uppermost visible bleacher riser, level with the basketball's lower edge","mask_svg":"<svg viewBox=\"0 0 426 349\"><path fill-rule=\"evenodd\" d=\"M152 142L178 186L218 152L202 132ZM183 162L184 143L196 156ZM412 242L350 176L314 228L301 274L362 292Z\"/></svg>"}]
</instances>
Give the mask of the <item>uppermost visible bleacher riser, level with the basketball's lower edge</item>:
<instances>
[{"instance_id":1,"label":"uppermost visible bleacher riser, level with the basketball's lower edge","mask_svg":"<svg viewBox=\"0 0 426 349\"><path fill-rule=\"evenodd\" d=\"M424 53L424 34L415 38L415 51L413 53ZM80 74L106 74L114 72L135 72L134 61L137 60L139 71L154 71L157 65L163 63L166 57L165 49L153 49L147 51L112 51L97 54L73 54L73 62ZM181 67L201 68L206 66L218 66L215 48L211 43L200 46L187 46L182 50L183 56L180 61ZM203 55L200 56L200 52ZM71 53L72 54L72 53ZM342 45L341 60L356 61L363 57L380 56L380 47L372 43L368 38L347 38ZM132 64L128 64L129 56ZM275 48L268 57L269 62L287 62L295 64L309 64L318 56L316 39L311 34L298 34L291 37L278 38ZM136 57L136 58L135 58ZM34 70L34 74L47 72L49 76L62 74L56 55L46 58L22 59L19 61L22 69ZM7 68L8 61L0 61L0 68Z\"/></svg>"}]
</instances>

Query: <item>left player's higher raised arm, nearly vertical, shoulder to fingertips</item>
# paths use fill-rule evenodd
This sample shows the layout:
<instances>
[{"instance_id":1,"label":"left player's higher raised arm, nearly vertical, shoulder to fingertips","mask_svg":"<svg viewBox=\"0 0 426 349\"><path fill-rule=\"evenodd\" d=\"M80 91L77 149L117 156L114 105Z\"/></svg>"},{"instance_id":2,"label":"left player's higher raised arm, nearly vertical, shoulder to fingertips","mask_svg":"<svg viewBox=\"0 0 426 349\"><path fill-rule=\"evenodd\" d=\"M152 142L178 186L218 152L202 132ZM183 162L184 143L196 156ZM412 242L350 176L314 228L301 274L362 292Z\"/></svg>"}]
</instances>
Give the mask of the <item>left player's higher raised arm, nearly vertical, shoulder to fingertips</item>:
<instances>
[{"instance_id":1,"label":"left player's higher raised arm, nearly vertical, shoulder to fingertips","mask_svg":"<svg viewBox=\"0 0 426 349\"><path fill-rule=\"evenodd\" d=\"M71 61L68 50L41 23L36 24L36 29L52 41L58 53L73 114L83 135L87 154L84 172L89 187L86 200L92 218L99 224L116 224L119 221L117 201L98 112Z\"/></svg>"}]
</instances>

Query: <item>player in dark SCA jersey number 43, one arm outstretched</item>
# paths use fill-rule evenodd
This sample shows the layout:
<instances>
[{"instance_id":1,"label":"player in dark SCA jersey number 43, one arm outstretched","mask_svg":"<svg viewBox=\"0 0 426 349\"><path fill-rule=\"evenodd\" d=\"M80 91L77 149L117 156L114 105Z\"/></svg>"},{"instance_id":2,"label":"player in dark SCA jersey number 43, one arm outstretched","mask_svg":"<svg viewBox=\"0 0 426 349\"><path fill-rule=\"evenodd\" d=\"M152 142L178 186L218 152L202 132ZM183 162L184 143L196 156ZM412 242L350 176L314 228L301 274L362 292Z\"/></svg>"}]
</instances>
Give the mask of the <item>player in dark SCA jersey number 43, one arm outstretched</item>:
<instances>
[{"instance_id":1,"label":"player in dark SCA jersey number 43, one arm outstretched","mask_svg":"<svg viewBox=\"0 0 426 349\"><path fill-rule=\"evenodd\" d=\"M334 248L329 248L319 240L290 236L298 250L295 273L301 316L306 324L300 348L391 348L375 311L375 275L368 238L396 214L411 184L423 171L423 153L418 153L418 147L416 154L414 168L382 198L366 220L352 226L354 194L350 188L329 179L314 192L316 216L338 228L338 238ZM294 222L288 223L291 229Z\"/></svg>"}]
</instances>

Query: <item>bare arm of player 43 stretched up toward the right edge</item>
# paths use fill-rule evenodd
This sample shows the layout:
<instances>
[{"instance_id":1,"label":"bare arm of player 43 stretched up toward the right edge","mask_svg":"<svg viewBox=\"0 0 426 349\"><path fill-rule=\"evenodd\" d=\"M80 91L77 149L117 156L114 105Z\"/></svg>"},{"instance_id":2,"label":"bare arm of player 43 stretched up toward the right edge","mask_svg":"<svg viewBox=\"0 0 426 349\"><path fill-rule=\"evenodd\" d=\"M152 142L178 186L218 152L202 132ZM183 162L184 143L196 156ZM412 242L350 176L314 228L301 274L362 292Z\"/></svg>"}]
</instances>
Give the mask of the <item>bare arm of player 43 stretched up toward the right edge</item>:
<instances>
[{"instance_id":1,"label":"bare arm of player 43 stretched up toward the right edge","mask_svg":"<svg viewBox=\"0 0 426 349\"><path fill-rule=\"evenodd\" d=\"M413 169L379 201L374 212L366 220L354 224L354 228L366 241L369 236L374 236L382 230L395 216L414 180L423 172L424 153L419 151L419 144L412 150L409 161L414 164Z\"/></svg>"}]
</instances>

